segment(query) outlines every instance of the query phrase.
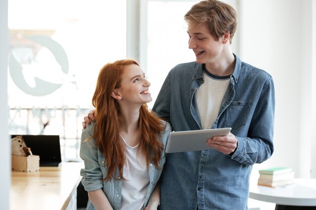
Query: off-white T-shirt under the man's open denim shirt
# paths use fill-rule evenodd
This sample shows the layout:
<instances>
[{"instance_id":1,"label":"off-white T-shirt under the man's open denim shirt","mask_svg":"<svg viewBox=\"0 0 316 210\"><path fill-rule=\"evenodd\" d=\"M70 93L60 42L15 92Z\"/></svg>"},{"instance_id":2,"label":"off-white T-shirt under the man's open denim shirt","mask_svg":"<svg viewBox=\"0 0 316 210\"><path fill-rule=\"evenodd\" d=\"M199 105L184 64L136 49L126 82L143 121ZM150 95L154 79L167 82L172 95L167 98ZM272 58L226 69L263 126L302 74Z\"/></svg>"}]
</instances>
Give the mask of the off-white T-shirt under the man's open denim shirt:
<instances>
[{"instance_id":1,"label":"off-white T-shirt under the man's open denim shirt","mask_svg":"<svg viewBox=\"0 0 316 210\"><path fill-rule=\"evenodd\" d=\"M230 78L215 79L203 71L203 79L204 83L196 91L196 102L202 129L210 129L218 117Z\"/></svg>"}]
</instances>

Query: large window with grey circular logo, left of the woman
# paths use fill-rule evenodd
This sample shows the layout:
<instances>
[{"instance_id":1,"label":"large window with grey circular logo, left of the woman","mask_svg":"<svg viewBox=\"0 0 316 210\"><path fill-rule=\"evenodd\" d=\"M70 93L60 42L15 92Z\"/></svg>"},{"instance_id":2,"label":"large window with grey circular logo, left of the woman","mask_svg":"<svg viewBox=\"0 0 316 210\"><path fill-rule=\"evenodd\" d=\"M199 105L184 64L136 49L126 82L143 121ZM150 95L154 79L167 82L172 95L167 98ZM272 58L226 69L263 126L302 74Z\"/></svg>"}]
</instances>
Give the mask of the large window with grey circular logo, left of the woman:
<instances>
[{"instance_id":1,"label":"large window with grey circular logo, left of the woman","mask_svg":"<svg viewBox=\"0 0 316 210\"><path fill-rule=\"evenodd\" d=\"M78 159L98 72L126 57L126 0L9 0L8 26L9 134L59 134Z\"/></svg>"}]
</instances>

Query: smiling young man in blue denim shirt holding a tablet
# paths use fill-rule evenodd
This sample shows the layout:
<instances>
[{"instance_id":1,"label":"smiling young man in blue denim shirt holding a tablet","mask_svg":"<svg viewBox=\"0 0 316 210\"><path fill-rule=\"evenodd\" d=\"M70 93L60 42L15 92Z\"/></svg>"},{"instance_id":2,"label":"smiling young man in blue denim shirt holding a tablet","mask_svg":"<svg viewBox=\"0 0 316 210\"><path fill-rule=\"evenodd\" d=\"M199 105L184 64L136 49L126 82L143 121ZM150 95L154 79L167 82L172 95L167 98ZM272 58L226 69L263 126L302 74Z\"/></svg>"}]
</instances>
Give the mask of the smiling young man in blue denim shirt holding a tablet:
<instances>
[{"instance_id":1,"label":"smiling young man in blue denim shirt holding a tablet","mask_svg":"<svg viewBox=\"0 0 316 210\"><path fill-rule=\"evenodd\" d=\"M152 110L175 131L232 130L208 140L213 150L166 156L160 209L246 210L252 165L274 150L273 80L233 54L237 14L230 5L202 1L185 20L196 61L171 69Z\"/></svg>"}]
</instances>

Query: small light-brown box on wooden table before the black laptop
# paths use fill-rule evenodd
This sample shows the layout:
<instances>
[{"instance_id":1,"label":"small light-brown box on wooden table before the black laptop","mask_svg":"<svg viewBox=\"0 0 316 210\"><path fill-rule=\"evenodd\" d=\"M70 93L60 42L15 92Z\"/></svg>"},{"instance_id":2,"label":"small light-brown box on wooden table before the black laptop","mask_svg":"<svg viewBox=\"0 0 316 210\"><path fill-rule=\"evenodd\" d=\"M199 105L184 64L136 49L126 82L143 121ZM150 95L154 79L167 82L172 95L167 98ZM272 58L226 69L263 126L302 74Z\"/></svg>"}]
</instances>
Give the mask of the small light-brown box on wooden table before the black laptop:
<instances>
[{"instance_id":1,"label":"small light-brown box on wooden table before the black laptop","mask_svg":"<svg viewBox=\"0 0 316 210\"><path fill-rule=\"evenodd\" d=\"M16 171L32 172L39 171L39 156L31 157L12 155L12 169Z\"/></svg>"}]
</instances>

